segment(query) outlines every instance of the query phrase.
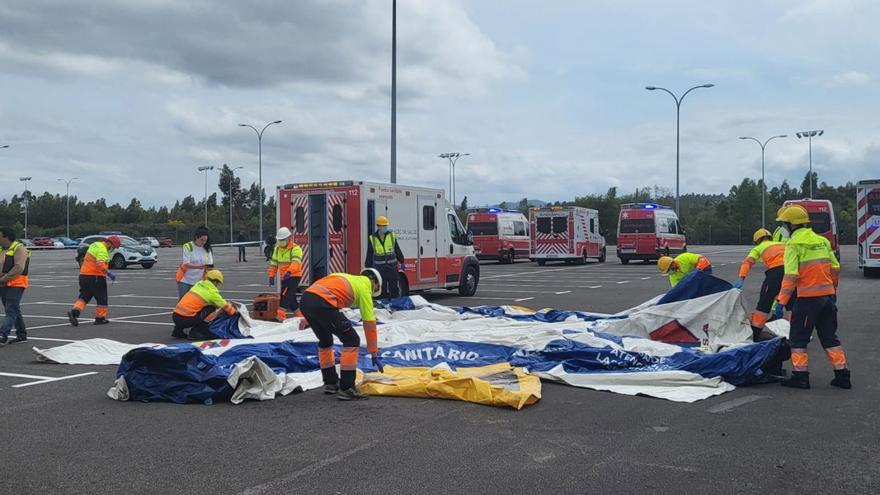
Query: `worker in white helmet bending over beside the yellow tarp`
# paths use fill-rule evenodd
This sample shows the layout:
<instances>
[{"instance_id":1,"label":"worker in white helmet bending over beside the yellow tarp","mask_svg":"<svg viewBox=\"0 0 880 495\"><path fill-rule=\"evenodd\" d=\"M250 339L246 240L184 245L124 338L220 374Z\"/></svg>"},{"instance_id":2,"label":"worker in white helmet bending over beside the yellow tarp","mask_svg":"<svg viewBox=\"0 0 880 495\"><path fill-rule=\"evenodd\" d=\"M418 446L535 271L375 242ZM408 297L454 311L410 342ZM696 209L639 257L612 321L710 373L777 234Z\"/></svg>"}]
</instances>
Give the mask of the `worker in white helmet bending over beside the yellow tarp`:
<instances>
[{"instance_id":1,"label":"worker in white helmet bending over beside the yellow tarp","mask_svg":"<svg viewBox=\"0 0 880 495\"><path fill-rule=\"evenodd\" d=\"M360 337L339 310L347 307L360 309L367 351L372 354L373 363L378 365L379 344L373 297L378 297L381 292L382 276L375 269L367 268L361 275L333 273L316 281L303 293L300 311L318 337L318 361L325 394L336 394L339 400L367 398L354 384ZM342 342L342 356L339 359L341 378L336 374L334 335Z\"/></svg>"}]
</instances>

